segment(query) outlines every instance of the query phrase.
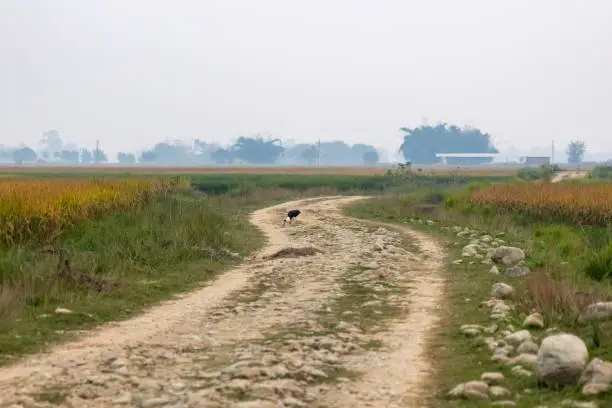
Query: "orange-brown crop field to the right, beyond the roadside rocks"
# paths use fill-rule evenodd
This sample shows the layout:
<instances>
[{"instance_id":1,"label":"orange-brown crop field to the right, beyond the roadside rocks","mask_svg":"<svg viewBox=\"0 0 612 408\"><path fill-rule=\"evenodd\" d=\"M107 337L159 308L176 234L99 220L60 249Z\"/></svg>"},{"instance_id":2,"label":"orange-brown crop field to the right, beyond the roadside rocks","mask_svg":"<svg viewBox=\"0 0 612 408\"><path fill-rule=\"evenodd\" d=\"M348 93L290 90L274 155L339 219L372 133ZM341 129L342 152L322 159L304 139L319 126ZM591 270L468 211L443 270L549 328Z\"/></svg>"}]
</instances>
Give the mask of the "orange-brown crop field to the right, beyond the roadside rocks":
<instances>
[{"instance_id":1,"label":"orange-brown crop field to the right, beyond the roadside rocks","mask_svg":"<svg viewBox=\"0 0 612 408\"><path fill-rule=\"evenodd\" d=\"M474 191L471 203L559 219L576 225L612 223L612 185L520 183L497 184Z\"/></svg>"}]
</instances>

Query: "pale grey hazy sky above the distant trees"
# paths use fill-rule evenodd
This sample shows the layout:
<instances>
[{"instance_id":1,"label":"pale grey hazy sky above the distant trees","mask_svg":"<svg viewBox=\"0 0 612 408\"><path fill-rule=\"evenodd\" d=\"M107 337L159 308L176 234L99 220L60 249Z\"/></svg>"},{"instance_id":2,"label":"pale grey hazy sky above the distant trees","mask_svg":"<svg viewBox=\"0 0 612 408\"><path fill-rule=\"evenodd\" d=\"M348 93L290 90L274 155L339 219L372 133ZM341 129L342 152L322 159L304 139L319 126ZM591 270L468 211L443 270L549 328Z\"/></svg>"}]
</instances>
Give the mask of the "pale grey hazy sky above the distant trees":
<instances>
[{"instance_id":1,"label":"pale grey hazy sky above the distant trees","mask_svg":"<svg viewBox=\"0 0 612 408\"><path fill-rule=\"evenodd\" d=\"M611 0L0 0L0 51L3 144L394 150L427 118L612 150Z\"/></svg>"}]
</instances>

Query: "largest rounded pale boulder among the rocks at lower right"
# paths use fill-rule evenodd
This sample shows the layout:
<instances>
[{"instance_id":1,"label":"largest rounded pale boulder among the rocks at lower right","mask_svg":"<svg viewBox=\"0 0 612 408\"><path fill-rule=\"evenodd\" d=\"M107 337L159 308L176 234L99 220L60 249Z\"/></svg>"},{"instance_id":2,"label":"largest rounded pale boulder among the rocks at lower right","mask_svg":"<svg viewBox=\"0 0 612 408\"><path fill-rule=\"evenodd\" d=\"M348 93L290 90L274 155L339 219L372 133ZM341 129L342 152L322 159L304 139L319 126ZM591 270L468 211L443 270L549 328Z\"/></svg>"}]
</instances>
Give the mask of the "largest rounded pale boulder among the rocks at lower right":
<instances>
[{"instance_id":1,"label":"largest rounded pale boulder among the rocks at lower right","mask_svg":"<svg viewBox=\"0 0 612 408\"><path fill-rule=\"evenodd\" d=\"M536 361L536 376L551 388L576 384L589 359L580 337L554 334L542 340Z\"/></svg>"}]
</instances>

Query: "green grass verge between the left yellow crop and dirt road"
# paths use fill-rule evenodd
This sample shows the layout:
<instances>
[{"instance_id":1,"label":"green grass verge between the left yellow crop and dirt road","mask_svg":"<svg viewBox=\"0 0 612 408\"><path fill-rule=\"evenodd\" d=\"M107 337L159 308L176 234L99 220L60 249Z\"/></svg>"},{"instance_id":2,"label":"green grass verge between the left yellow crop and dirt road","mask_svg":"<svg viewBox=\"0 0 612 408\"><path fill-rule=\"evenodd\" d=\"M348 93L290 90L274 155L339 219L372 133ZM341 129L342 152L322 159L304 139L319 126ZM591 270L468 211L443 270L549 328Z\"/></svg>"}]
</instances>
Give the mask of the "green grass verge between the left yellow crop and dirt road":
<instances>
[{"instance_id":1,"label":"green grass verge between the left yellow crop and dirt road","mask_svg":"<svg viewBox=\"0 0 612 408\"><path fill-rule=\"evenodd\" d=\"M77 225L54 247L2 248L0 365L197 288L264 243L251 211L322 192L182 190Z\"/></svg>"}]
</instances>

